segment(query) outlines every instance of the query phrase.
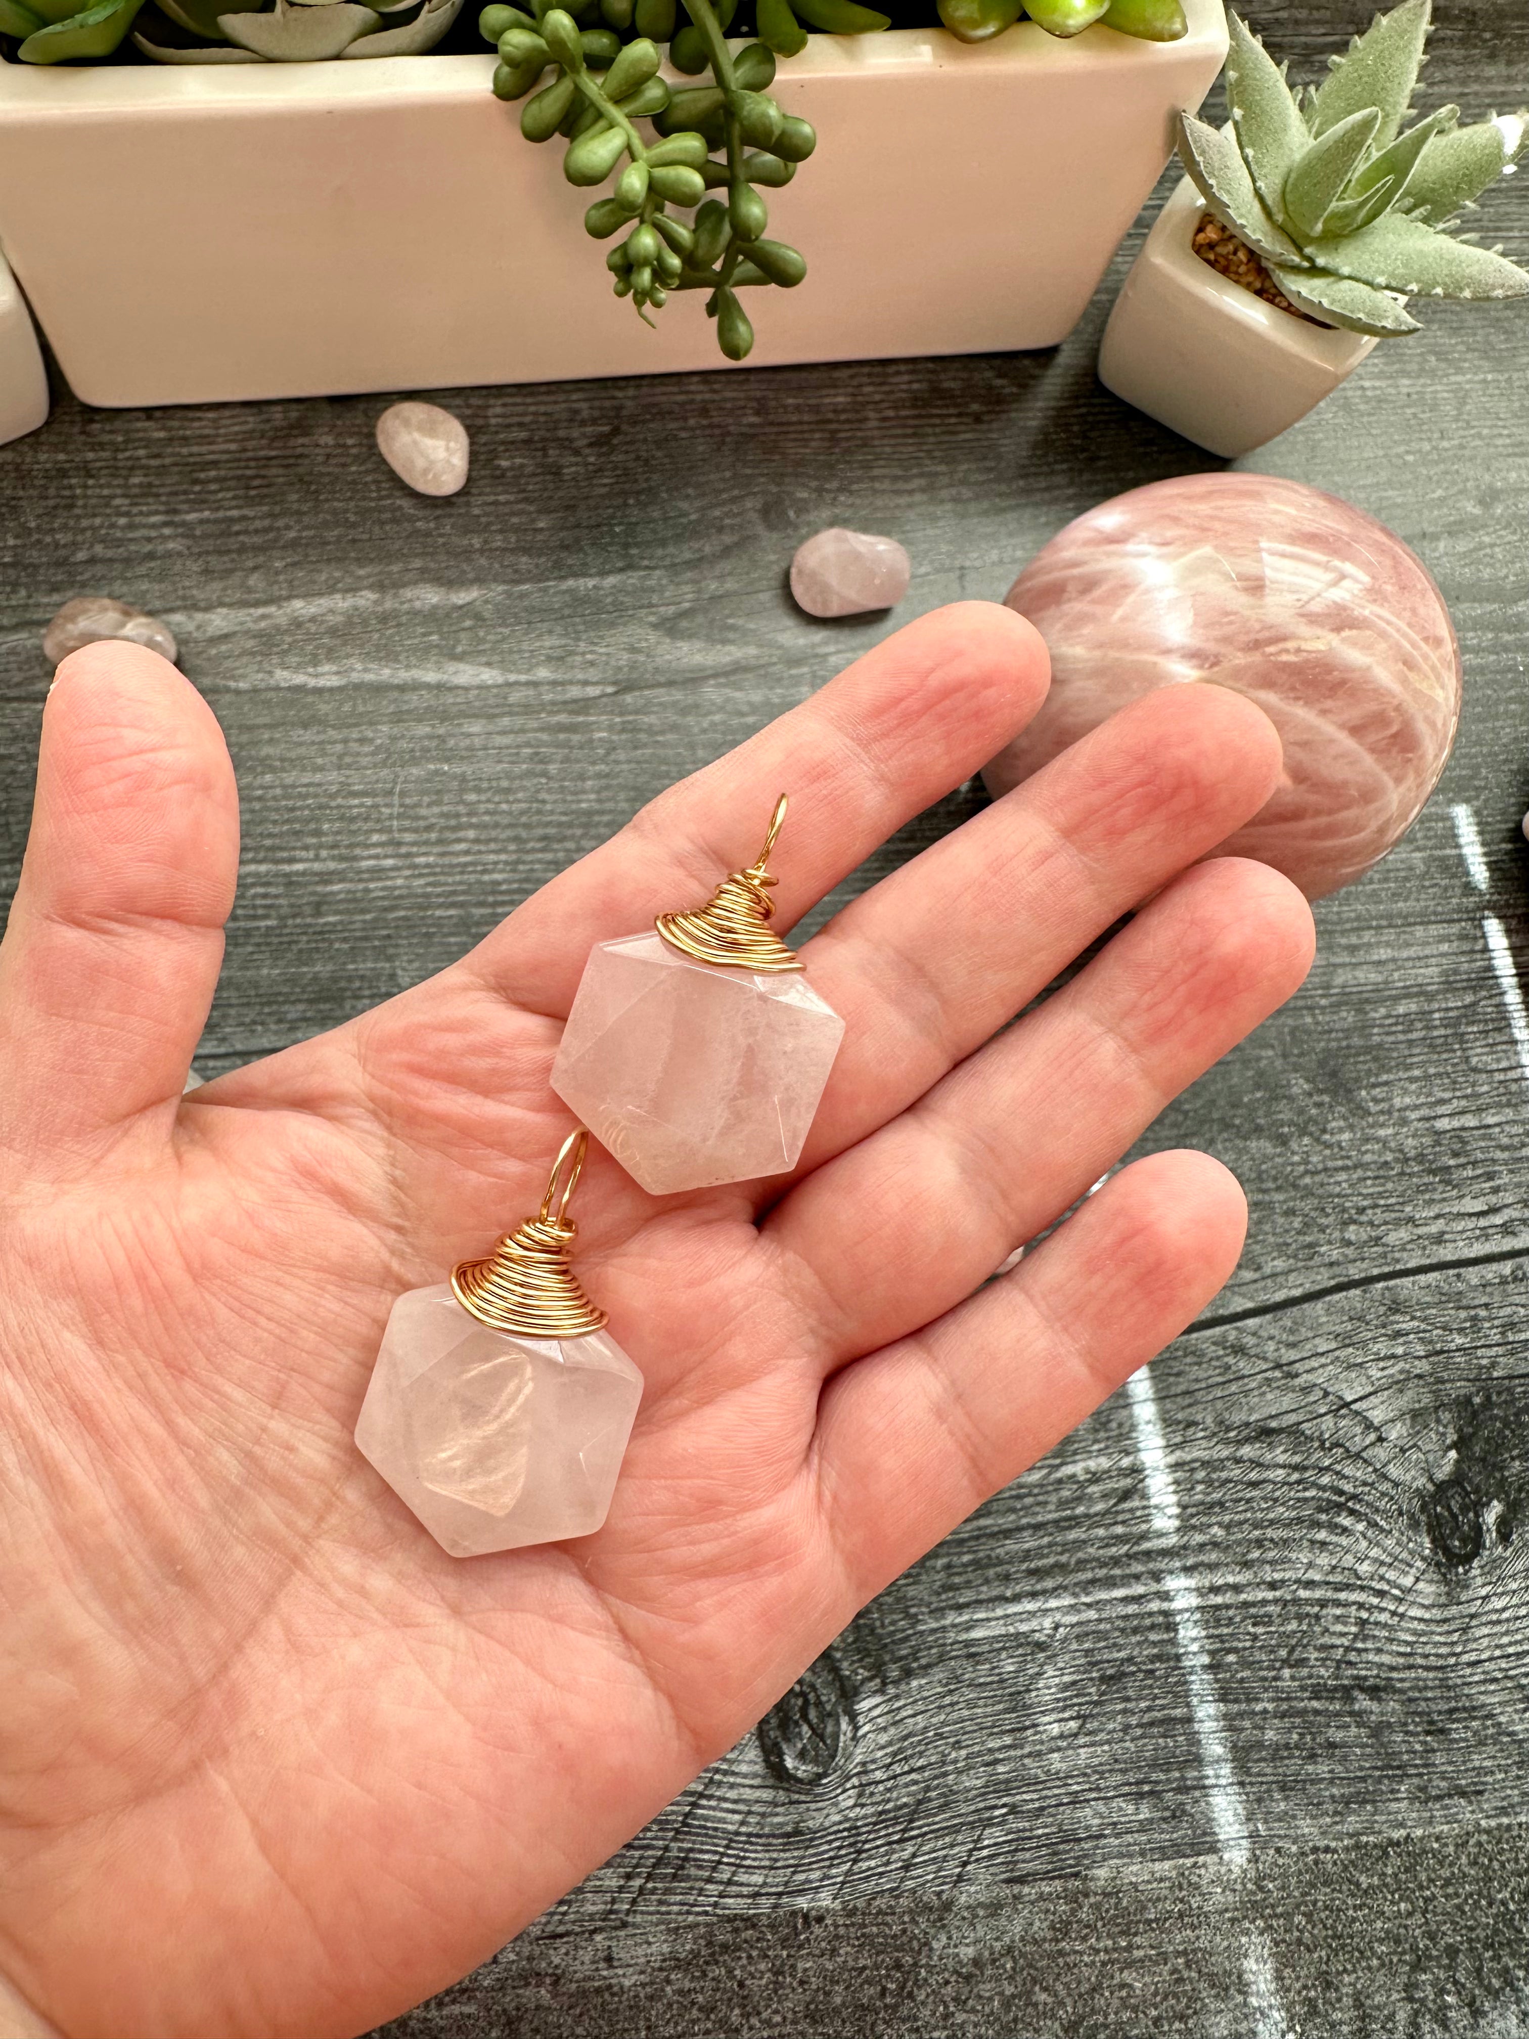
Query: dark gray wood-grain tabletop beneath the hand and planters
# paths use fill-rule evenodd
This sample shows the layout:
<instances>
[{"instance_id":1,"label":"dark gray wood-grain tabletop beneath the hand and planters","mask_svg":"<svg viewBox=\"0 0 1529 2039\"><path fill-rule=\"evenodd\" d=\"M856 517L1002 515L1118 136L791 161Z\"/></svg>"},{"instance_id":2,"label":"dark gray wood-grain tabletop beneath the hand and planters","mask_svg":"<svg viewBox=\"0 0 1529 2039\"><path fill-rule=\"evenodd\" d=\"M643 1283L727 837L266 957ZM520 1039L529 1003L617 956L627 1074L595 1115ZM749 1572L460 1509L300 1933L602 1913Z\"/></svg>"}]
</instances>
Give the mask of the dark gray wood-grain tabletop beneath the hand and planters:
<instances>
[{"instance_id":1,"label":"dark gray wood-grain tabletop beneath the hand and planters","mask_svg":"<svg viewBox=\"0 0 1529 2039\"><path fill-rule=\"evenodd\" d=\"M1368 12L1260 24L1311 75ZM1443 0L1443 98L1529 98L1519 0ZM1529 175L1486 226L1529 257ZM383 400L61 398L0 451L0 883L39 632L110 591L171 622L241 775L198 1068L414 983L893 624L1217 465L1093 379L1123 259L1052 355L451 394L473 479L444 504L377 461ZM1466 716L1409 840L1319 909L1309 987L1144 1142L1246 1183L1235 1280L1150 1409L1117 1397L983 1509L396 2039L1529 2033L1529 1081L1482 930L1529 971L1529 320L1425 318L1248 463L1417 546ZM830 522L909 546L893 618L791 608Z\"/></svg>"}]
</instances>

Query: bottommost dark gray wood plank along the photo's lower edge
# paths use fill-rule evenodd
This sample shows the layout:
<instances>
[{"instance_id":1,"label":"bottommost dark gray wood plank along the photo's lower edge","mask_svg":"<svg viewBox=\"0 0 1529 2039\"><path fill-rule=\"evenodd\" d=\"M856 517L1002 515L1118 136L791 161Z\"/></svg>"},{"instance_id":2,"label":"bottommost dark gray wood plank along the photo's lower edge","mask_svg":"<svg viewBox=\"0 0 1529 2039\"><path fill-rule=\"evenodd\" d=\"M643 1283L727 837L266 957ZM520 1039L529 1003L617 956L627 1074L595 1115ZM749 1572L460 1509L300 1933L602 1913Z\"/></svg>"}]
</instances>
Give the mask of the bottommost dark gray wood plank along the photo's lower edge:
<instances>
[{"instance_id":1,"label":"bottommost dark gray wood plank along the photo's lower edge","mask_svg":"<svg viewBox=\"0 0 1529 2039\"><path fill-rule=\"evenodd\" d=\"M550 1921L396 2039L1513 2039L1519 1825L569 1939ZM1250 1968L1254 1988L1250 1988ZM1272 1976L1288 2025L1256 1984ZM1258 2015L1264 2010L1264 2021Z\"/></svg>"}]
</instances>

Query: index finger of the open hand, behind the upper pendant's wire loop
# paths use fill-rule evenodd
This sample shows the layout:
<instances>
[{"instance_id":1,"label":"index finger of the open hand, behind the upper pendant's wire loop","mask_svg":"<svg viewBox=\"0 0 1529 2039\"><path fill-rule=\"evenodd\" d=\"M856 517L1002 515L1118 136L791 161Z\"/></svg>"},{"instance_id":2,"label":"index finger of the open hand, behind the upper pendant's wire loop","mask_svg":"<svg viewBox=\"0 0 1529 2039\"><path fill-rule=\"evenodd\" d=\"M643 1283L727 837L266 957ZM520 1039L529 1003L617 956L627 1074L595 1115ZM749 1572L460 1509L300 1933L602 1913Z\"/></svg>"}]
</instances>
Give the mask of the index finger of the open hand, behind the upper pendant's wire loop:
<instances>
[{"instance_id":1,"label":"index finger of the open hand, behind the upper pendant's wire loop","mask_svg":"<svg viewBox=\"0 0 1529 2039\"><path fill-rule=\"evenodd\" d=\"M595 942L701 903L758 850L779 793L791 818L771 869L793 926L903 822L962 785L1030 722L1050 661L1023 616L956 602L885 638L758 736L650 801L493 930L465 966L567 1017Z\"/></svg>"}]
</instances>

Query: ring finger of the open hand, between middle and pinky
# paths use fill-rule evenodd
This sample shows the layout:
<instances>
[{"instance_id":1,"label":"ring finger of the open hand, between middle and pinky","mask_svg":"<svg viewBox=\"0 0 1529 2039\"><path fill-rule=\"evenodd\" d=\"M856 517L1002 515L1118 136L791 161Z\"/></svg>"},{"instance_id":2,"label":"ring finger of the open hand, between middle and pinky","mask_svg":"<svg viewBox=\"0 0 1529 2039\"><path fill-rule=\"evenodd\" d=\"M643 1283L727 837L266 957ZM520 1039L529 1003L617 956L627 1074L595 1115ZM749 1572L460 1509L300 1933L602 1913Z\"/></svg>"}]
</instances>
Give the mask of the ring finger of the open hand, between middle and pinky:
<instances>
[{"instance_id":1,"label":"ring finger of the open hand, between middle and pinky","mask_svg":"<svg viewBox=\"0 0 1529 2039\"><path fill-rule=\"evenodd\" d=\"M1311 911L1242 858L1178 879L1087 971L777 1207L828 1368L970 1295L1311 966Z\"/></svg>"}]
</instances>

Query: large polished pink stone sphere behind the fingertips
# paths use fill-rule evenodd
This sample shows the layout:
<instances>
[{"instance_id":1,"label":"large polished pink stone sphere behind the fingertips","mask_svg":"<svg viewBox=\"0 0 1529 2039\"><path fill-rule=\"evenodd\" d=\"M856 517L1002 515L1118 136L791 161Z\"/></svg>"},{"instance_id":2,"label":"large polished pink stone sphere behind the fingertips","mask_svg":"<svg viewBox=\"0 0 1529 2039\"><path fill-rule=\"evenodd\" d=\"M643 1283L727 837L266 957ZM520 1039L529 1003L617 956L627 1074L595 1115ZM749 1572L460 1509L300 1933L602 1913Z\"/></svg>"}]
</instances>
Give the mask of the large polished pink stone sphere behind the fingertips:
<instances>
[{"instance_id":1,"label":"large polished pink stone sphere behind the fingertips","mask_svg":"<svg viewBox=\"0 0 1529 2039\"><path fill-rule=\"evenodd\" d=\"M1223 844L1337 891L1417 820L1460 720L1460 646L1427 569L1374 518L1299 481L1182 475L1076 518L1007 593L1052 655L1040 714L991 793L1154 687L1256 701L1284 779Z\"/></svg>"}]
</instances>

